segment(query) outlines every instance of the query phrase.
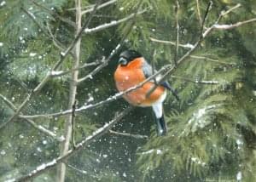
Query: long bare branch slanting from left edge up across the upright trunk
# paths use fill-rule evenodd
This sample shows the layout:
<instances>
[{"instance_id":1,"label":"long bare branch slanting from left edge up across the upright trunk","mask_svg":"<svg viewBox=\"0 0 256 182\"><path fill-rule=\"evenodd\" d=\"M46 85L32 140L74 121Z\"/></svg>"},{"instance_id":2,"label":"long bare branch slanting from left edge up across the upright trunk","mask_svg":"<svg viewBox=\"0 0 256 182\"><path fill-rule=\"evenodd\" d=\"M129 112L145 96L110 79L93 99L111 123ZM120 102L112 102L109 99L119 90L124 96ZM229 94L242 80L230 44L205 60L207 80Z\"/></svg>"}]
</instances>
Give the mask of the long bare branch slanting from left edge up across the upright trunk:
<instances>
[{"instance_id":1,"label":"long bare branch slanting from left edge up across the upright trunk","mask_svg":"<svg viewBox=\"0 0 256 182\"><path fill-rule=\"evenodd\" d=\"M79 33L77 34L77 36L74 37L73 42L70 43L70 45L68 46L68 48L66 49L66 51L64 53L61 52L60 59L55 63L55 65L52 68L52 71L56 71L60 67L60 65L63 63L63 61L66 60L67 55L74 48L75 44L79 41L79 38L82 36L84 30L89 26L90 20L92 19L93 14L96 13L97 4L98 3L96 3L96 6L94 7L94 11L92 11L90 13L90 16L88 17L88 19L84 23L84 26L82 26L82 28L79 31ZM22 104L16 110L15 114L12 117L10 117L7 122L4 122L2 125L0 125L0 130L3 129L7 124L9 124L9 122L13 122L19 116L20 112L26 107L26 105L28 104L29 100L31 100L32 96L38 94L38 92L42 88L44 88L44 85L49 81L49 78L50 78L50 74L48 74L46 77L44 77L44 79L41 82L39 82L38 86L32 90L32 93L28 94L26 96L26 99L22 102Z\"/></svg>"}]
</instances>

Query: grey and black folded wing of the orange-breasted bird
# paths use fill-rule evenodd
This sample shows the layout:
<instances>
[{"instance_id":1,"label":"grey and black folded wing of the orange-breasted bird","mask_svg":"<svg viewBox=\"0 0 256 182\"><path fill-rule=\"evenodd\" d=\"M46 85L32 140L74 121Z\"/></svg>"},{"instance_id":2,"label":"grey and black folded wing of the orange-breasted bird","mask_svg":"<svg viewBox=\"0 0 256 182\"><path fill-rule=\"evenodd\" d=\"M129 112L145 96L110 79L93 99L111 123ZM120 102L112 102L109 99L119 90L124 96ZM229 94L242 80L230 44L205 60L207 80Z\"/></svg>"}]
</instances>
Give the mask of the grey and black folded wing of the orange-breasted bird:
<instances>
[{"instance_id":1,"label":"grey and black folded wing of the orange-breasted bird","mask_svg":"<svg viewBox=\"0 0 256 182\"><path fill-rule=\"evenodd\" d=\"M156 70L154 70L156 72ZM148 64L146 60L143 61L143 73L146 78L150 77L153 75L153 69L152 66ZM157 79L157 78L156 78ZM160 82L160 85L163 86L164 88L167 88L172 92L172 94L175 96L177 100L180 100L179 97L177 96L176 91L171 87L170 83L165 81L165 82Z\"/></svg>"}]
</instances>

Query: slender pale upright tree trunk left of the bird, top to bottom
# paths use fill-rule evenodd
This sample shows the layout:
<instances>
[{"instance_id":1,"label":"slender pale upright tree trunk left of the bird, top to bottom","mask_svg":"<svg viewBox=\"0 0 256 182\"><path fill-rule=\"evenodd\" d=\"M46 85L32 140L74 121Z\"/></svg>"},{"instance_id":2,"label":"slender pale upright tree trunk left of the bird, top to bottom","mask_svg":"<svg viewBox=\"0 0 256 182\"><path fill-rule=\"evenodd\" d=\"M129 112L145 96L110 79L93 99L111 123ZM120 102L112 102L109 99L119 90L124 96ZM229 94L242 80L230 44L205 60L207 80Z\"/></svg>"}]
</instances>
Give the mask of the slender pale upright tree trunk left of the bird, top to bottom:
<instances>
[{"instance_id":1,"label":"slender pale upright tree trunk left of the bird, top to bottom","mask_svg":"<svg viewBox=\"0 0 256 182\"><path fill-rule=\"evenodd\" d=\"M75 6L76 6L76 33L75 36L79 33L81 30L81 0L75 0ZM75 70L75 68L79 67L79 55L80 55L80 44L81 44L81 37L79 38L78 42L74 46L74 54L75 58L73 61L73 73L71 76L71 82L69 85L69 101L67 109L72 109L73 104L76 99L76 92L77 92L77 82L79 77L79 70ZM67 116L67 121L65 124L65 140L61 143L61 152L60 156L63 156L67 153L70 145L71 135L72 135L72 115ZM66 174L66 165L65 163L61 163L57 168L57 175L56 175L56 181L58 182L64 182L65 181L65 174Z\"/></svg>"}]
</instances>

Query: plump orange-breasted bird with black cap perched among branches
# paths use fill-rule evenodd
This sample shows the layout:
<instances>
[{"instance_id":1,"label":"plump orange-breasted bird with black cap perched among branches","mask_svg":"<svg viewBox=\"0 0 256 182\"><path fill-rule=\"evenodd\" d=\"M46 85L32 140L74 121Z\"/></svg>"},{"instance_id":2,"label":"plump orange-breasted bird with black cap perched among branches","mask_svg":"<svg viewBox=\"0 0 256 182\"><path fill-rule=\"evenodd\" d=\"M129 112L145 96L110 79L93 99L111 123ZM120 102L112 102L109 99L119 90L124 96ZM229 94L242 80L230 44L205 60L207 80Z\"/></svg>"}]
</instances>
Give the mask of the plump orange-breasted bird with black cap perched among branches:
<instances>
[{"instance_id":1,"label":"plump orange-breasted bird with black cap perched among branches","mask_svg":"<svg viewBox=\"0 0 256 182\"><path fill-rule=\"evenodd\" d=\"M128 88L137 86L140 82L145 81L153 75L153 68L144 59L143 55L136 50L128 49L119 54L119 65L114 71L114 81L119 92ZM158 81L160 77L156 77ZM148 91L154 87L155 81L148 81L129 93L123 95L123 98L134 106L152 107L156 122L156 131L158 136L166 135L166 121L163 111L163 102L166 100L166 90L179 100L175 90L167 81L160 82L154 91L148 95Z\"/></svg>"}]
</instances>

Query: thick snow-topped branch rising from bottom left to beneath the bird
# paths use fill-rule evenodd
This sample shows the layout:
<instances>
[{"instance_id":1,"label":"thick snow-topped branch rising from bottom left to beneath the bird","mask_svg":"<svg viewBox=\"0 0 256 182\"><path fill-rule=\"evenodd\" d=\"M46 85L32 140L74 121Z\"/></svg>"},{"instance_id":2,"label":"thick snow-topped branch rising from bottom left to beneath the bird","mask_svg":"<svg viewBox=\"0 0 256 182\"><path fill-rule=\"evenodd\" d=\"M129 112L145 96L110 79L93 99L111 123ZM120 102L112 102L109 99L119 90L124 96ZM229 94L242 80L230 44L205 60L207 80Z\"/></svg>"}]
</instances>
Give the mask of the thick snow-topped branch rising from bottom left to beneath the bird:
<instances>
[{"instance_id":1,"label":"thick snow-topped branch rising from bottom left to beneath the bird","mask_svg":"<svg viewBox=\"0 0 256 182\"><path fill-rule=\"evenodd\" d=\"M21 176L20 178L17 178L17 179L9 179L8 181L9 182L27 181L29 179L33 179L33 178L37 177L39 174L44 173L45 171L49 170L50 168L54 168L57 164L64 162L65 160L67 160L68 157L73 156L77 151L80 151L81 149L83 149L84 146L89 145L91 142L94 142L96 139L101 137L103 134L107 134L109 129L113 128L114 124L116 122L119 122L131 110L132 110L132 107L130 106L127 109L125 109L125 111L122 111L119 114L117 114L115 117L113 117L113 120L106 123L102 128L98 128L93 134L91 134L90 136L86 137L81 142L79 142L79 144L76 145L75 148L67 151L67 153L65 155L59 156L50 162L42 163L37 168L32 170L30 173L27 173L26 175Z\"/></svg>"}]
</instances>

